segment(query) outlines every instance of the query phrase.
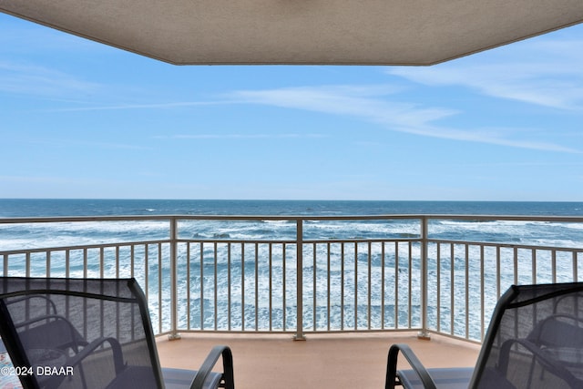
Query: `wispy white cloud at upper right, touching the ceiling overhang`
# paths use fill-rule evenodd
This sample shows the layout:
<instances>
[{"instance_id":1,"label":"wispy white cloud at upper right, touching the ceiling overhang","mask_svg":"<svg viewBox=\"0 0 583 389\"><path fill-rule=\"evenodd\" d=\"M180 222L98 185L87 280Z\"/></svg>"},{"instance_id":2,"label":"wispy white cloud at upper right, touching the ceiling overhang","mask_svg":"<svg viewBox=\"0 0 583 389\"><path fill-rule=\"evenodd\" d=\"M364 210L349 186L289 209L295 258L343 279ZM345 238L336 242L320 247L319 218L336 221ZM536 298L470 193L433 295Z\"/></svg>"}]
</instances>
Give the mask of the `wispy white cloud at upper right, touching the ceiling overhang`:
<instances>
[{"instance_id":1,"label":"wispy white cloud at upper right, touching the ceiling overhang","mask_svg":"<svg viewBox=\"0 0 583 389\"><path fill-rule=\"evenodd\" d=\"M538 38L435 67L387 67L427 86L467 87L544 107L583 108L583 41Z\"/></svg>"}]
</instances>

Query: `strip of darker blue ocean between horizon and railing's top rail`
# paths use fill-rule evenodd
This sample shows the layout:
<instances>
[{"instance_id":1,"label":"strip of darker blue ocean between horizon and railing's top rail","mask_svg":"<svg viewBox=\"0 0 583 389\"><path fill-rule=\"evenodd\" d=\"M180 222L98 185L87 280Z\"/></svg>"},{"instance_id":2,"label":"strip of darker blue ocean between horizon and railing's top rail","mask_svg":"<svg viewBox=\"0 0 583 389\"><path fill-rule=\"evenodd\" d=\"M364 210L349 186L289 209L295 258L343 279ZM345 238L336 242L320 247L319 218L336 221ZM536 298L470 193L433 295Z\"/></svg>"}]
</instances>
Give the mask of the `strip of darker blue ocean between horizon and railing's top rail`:
<instances>
[{"instance_id":1,"label":"strip of darker blue ocean between horizon and railing's top rail","mask_svg":"<svg viewBox=\"0 0 583 389\"><path fill-rule=\"evenodd\" d=\"M583 216L583 202L0 199L0 218L109 215L464 214Z\"/></svg>"}]
</instances>

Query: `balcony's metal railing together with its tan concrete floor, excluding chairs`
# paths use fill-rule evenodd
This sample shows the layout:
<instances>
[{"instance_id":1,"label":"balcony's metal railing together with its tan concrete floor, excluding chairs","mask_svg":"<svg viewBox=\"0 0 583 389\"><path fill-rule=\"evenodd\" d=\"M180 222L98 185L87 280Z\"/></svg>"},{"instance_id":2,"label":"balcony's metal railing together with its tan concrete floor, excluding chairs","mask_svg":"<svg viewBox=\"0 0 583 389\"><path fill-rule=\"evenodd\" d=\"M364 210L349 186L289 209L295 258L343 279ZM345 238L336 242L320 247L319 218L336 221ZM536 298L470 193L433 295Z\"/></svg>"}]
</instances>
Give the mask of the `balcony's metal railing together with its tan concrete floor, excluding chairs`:
<instances>
[{"instance_id":1,"label":"balcony's metal railing together with its tan concrete floor, excluding chairs","mask_svg":"<svg viewBox=\"0 0 583 389\"><path fill-rule=\"evenodd\" d=\"M395 342L411 343L430 366L473 365L510 284L580 281L583 248L540 237L582 223L476 215L14 218L0 219L0 240L12 242L0 261L9 276L137 278L166 366L196 366L210 344L227 343L241 387L362 387L383 384ZM467 232L506 225L537 236L476 241L481 235Z\"/></svg>"}]
</instances>

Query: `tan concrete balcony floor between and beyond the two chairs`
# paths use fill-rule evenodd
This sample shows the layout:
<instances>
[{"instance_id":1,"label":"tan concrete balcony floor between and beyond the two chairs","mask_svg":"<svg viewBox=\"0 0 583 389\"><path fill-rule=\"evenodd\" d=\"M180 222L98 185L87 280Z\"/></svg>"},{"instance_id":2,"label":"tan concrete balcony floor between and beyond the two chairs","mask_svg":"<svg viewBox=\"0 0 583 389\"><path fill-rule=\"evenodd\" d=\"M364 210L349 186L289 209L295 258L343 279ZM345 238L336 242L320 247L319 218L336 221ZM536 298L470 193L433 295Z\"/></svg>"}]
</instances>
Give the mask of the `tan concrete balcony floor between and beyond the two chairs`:
<instances>
[{"instance_id":1,"label":"tan concrete balcony floor between and beyond the two chairs","mask_svg":"<svg viewBox=\"0 0 583 389\"><path fill-rule=\"evenodd\" d=\"M408 343L426 367L474 366L479 344L416 333L308 334L293 341L289 334L182 334L158 338L163 367L198 369L215 344L230 346L238 389L384 388L386 359L393 343ZM402 358L399 367L406 367Z\"/></svg>"}]
</instances>

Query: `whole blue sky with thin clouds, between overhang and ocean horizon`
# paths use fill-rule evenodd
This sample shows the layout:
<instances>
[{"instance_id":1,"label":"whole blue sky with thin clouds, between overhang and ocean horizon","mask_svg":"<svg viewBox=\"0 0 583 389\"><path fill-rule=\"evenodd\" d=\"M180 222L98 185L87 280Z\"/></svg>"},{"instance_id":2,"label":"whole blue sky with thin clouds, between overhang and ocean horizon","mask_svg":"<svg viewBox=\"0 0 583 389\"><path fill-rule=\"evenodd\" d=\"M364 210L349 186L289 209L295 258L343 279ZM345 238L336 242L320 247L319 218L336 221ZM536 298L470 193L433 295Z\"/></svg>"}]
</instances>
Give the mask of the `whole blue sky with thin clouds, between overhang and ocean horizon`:
<instances>
[{"instance_id":1,"label":"whole blue sky with thin clouds, between overhang and ocean horizon","mask_svg":"<svg viewBox=\"0 0 583 389\"><path fill-rule=\"evenodd\" d=\"M581 201L582 47L175 67L0 14L0 198Z\"/></svg>"}]
</instances>

